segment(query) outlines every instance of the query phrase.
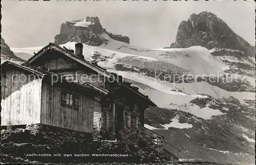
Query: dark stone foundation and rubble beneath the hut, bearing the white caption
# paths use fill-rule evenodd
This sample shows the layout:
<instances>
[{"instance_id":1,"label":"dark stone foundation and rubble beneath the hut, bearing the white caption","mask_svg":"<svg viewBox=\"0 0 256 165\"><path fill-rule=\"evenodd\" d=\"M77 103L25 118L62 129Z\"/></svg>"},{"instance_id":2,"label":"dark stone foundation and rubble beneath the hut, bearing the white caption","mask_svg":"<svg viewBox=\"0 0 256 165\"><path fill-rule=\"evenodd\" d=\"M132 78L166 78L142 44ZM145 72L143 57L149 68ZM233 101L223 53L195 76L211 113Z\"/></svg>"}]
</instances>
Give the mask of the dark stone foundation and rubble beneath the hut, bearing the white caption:
<instances>
[{"instance_id":1,"label":"dark stone foundation and rubble beneath the hut, bearing the white caption","mask_svg":"<svg viewBox=\"0 0 256 165\"><path fill-rule=\"evenodd\" d=\"M42 124L1 129L1 161L4 163L163 163L150 148L140 148L134 134L121 131L122 141L113 141L94 130L93 134ZM91 141L93 135L93 141ZM107 140L104 140L107 139ZM93 156L103 154L106 156ZM109 156L107 155L109 154ZM78 155L78 156L77 156ZM112 155L112 156L111 156ZM114 156L113 156L114 155ZM116 156L115 156L116 155ZM119 156L118 156L119 155Z\"/></svg>"}]
</instances>

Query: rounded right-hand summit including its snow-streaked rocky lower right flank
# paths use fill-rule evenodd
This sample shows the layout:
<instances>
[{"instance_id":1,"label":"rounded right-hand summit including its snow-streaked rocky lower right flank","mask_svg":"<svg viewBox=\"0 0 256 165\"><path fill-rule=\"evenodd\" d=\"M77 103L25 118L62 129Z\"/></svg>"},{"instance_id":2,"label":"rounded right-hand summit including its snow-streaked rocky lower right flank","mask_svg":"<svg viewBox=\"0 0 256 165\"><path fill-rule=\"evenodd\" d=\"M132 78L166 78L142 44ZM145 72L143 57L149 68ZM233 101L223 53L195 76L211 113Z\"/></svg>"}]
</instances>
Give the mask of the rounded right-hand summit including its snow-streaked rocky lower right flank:
<instances>
[{"instance_id":1,"label":"rounded right-hand summit including its snow-streaked rocky lower right flank","mask_svg":"<svg viewBox=\"0 0 256 165\"><path fill-rule=\"evenodd\" d=\"M191 14L182 21L176 35L176 41L168 48L186 48L202 46L226 63L226 73L239 73L255 77L255 46L234 33L229 26L215 14L201 12Z\"/></svg>"}]
</instances>

